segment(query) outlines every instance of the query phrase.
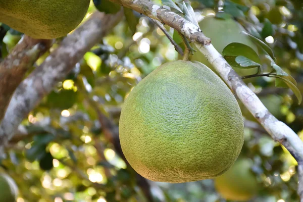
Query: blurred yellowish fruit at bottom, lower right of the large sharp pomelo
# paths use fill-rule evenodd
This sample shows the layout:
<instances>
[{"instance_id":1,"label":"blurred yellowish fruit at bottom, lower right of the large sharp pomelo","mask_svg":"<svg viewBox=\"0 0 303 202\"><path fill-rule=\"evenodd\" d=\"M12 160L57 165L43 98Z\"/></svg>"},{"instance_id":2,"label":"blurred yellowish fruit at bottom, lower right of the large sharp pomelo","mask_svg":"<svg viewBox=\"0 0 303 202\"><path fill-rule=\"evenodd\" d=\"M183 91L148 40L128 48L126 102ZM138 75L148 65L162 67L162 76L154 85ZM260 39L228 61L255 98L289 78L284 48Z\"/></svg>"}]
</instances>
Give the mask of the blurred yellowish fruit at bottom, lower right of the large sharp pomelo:
<instances>
[{"instance_id":1,"label":"blurred yellowish fruit at bottom, lower right of the large sharp pomelo","mask_svg":"<svg viewBox=\"0 0 303 202\"><path fill-rule=\"evenodd\" d=\"M247 201L258 192L258 182L249 159L238 159L223 175L215 179L216 190L228 200Z\"/></svg>"}]
</instances>

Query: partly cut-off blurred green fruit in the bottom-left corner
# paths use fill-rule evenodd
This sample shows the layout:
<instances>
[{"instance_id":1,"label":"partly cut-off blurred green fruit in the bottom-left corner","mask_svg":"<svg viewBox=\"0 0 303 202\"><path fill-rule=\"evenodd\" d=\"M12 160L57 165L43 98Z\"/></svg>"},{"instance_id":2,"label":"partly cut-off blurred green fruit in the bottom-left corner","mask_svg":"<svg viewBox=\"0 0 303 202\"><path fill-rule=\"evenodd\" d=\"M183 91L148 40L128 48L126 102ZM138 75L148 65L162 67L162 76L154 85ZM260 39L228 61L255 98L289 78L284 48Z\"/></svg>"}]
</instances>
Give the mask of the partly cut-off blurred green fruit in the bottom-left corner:
<instances>
[{"instance_id":1,"label":"partly cut-off blurred green fruit in the bottom-left corner","mask_svg":"<svg viewBox=\"0 0 303 202\"><path fill-rule=\"evenodd\" d=\"M7 174L0 174L0 201L15 202L18 187L15 181Z\"/></svg>"}]
</instances>

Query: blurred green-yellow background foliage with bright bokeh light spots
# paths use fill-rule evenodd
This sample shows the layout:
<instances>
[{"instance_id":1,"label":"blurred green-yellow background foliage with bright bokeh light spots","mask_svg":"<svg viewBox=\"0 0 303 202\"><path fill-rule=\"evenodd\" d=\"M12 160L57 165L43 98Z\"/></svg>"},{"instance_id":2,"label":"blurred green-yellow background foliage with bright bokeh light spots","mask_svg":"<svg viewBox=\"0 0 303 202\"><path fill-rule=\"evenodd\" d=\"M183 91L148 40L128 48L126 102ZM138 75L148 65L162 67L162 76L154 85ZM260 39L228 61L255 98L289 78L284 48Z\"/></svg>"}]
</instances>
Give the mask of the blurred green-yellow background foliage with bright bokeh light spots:
<instances>
[{"instance_id":1,"label":"blurred green-yellow background foliage with bright bokeh light spots","mask_svg":"<svg viewBox=\"0 0 303 202\"><path fill-rule=\"evenodd\" d=\"M107 1L94 1L96 5L100 2ZM301 0L194 0L192 7L198 20L218 12L221 17L222 12L232 15L248 33L273 49L276 64L297 81L303 93ZM91 3L87 18L95 10ZM116 10L104 7L106 12ZM11 140L1 166L19 187L18 202L148 201L136 173L123 160L117 140L100 123L100 113L117 126L121 105L130 90L155 68L178 56L164 33L147 17L129 10L125 15L23 121L28 134L17 134ZM165 27L172 36L173 30ZM1 25L0 61L21 35ZM61 40L57 39L50 52ZM268 64L261 65L267 72ZM268 99L267 105L303 139L303 104L297 104L291 90L276 88L274 78L268 77L258 77L248 86L261 97L279 97L280 101L274 103ZM298 201L295 160L247 111L243 115L250 122L241 156L253 162L251 172L259 183L259 192L250 201ZM212 179L150 184L154 201L226 201L216 192Z\"/></svg>"}]
</instances>

